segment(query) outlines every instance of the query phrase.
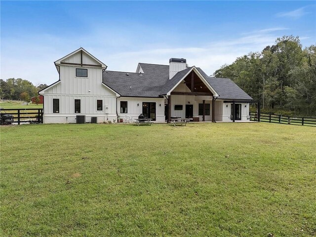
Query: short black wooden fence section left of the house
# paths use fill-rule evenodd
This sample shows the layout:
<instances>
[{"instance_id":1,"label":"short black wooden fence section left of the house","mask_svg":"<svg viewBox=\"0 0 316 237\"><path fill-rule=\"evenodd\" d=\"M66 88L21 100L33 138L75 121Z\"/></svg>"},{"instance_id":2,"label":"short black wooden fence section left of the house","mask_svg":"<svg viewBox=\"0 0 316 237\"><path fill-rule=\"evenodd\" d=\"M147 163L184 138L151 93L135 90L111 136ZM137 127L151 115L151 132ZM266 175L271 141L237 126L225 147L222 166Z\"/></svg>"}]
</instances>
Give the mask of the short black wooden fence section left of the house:
<instances>
[{"instance_id":1,"label":"short black wooden fence section left of the house","mask_svg":"<svg viewBox=\"0 0 316 237\"><path fill-rule=\"evenodd\" d=\"M43 109L0 109L1 115L12 115L13 123L43 123Z\"/></svg>"}]
</instances>

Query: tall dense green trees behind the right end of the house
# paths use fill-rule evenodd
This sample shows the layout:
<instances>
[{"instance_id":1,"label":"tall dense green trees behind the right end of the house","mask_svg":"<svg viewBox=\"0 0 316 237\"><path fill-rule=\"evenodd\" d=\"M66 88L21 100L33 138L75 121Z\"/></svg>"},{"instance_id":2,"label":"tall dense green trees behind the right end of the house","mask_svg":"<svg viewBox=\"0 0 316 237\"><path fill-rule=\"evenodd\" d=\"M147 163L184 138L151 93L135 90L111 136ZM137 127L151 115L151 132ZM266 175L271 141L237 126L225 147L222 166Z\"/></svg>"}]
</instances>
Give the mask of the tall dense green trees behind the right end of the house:
<instances>
[{"instance_id":1,"label":"tall dense green trees behind the right end of the house","mask_svg":"<svg viewBox=\"0 0 316 237\"><path fill-rule=\"evenodd\" d=\"M230 78L263 111L316 115L316 45L302 48L299 37L283 36L261 52L238 57L212 77Z\"/></svg>"}]
</instances>

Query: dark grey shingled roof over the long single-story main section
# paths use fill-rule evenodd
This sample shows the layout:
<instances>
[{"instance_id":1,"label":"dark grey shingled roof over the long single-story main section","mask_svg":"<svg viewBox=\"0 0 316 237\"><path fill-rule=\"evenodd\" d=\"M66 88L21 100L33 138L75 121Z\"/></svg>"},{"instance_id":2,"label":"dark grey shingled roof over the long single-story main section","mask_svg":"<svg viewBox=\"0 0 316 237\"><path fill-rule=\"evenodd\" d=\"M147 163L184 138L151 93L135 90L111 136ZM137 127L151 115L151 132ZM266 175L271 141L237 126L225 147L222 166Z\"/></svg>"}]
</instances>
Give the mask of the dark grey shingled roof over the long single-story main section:
<instances>
[{"instance_id":1,"label":"dark grey shingled roof over the long single-story main section","mask_svg":"<svg viewBox=\"0 0 316 237\"><path fill-rule=\"evenodd\" d=\"M103 72L103 83L128 97L160 97L171 90L191 69L178 72L169 80L169 65L140 63L144 73ZM197 70L219 94L219 99L252 100L231 79L209 78L200 68ZM127 75L128 74L128 75Z\"/></svg>"}]
</instances>

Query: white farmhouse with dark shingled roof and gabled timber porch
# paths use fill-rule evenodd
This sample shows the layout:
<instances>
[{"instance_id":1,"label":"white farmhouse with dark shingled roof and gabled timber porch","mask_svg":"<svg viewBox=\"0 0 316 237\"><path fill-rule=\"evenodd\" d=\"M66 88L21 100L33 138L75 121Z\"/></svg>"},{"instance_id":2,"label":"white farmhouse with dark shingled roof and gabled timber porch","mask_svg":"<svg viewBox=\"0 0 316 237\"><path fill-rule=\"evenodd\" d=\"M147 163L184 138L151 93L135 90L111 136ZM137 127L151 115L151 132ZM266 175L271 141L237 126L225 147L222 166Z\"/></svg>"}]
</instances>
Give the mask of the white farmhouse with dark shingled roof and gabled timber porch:
<instances>
[{"instance_id":1,"label":"white farmhouse with dark shingled roof and gabled timber porch","mask_svg":"<svg viewBox=\"0 0 316 237\"><path fill-rule=\"evenodd\" d=\"M246 121L252 98L232 80L210 78L186 59L169 65L139 63L135 73L107 71L83 48L57 60L59 80L39 91L44 123L117 121L118 118L171 118ZM79 116L79 117L78 117Z\"/></svg>"}]
</instances>

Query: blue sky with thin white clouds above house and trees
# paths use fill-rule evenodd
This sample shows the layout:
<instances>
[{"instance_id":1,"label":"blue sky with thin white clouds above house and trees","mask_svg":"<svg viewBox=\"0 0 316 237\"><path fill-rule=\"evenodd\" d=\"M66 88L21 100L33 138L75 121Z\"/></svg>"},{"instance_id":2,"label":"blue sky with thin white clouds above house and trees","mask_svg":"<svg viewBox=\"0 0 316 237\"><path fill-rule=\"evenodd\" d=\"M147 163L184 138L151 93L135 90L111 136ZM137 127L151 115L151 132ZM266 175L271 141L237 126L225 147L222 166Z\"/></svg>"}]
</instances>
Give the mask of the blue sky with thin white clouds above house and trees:
<instances>
[{"instance_id":1,"label":"blue sky with thin white clouds above house and trees","mask_svg":"<svg viewBox=\"0 0 316 237\"><path fill-rule=\"evenodd\" d=\"M186 58L211 75L277 37L316 43L315 1L0 1L1 79L58 80L80 46L108 70Z\"/></svg>"}]
</instances>

